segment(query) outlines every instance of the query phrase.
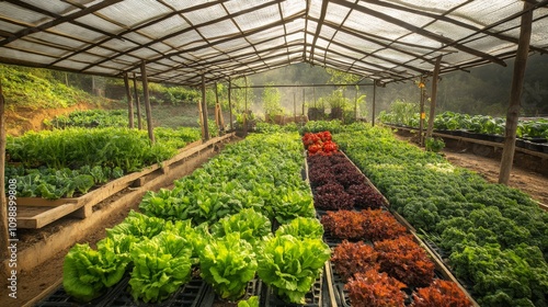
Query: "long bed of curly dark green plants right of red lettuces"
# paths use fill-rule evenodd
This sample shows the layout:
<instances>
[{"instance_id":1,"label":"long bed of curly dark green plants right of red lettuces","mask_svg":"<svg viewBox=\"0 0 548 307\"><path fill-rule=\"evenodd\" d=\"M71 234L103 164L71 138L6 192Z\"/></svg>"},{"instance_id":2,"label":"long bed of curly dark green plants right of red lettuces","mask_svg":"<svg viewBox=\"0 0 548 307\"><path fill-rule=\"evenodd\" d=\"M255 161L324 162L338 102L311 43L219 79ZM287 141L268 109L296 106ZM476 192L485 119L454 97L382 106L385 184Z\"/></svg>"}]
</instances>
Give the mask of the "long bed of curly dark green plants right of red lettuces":
<instances>
[{"instance_id":1,"label":"long bed of curly dark green plants right of red lettuces","mask_svg":"<svg viewBox=\"0 0 548 307\"><path fill-rule=\"evenodd\" d=\"M424 238L481 306L548 304L548 213L389 129L334 135L339 146Z\"/></svg>"}]
</instances>

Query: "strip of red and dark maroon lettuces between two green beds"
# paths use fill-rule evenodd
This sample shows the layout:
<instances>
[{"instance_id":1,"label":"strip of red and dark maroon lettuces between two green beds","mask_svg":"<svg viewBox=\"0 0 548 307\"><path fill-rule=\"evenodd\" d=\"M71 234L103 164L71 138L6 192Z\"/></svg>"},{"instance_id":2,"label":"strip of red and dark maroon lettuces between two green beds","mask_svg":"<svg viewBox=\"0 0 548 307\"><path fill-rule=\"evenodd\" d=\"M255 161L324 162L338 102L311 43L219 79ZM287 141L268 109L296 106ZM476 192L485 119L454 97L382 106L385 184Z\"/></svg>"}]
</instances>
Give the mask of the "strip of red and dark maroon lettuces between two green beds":
<instances>
[{"instance_id":1,"label":"strip of red and dark maroon lettuces between two green beds","mask_svg":"<svg viewBox=\"0 0 548 307\"><path fill-rule=\"evenodd\" d=\"M326 240L334 247L335 282L344 284L352 306L406 306L411 295L411 306L471 305L455 283L434 280L427 253L344 155L309 151L308 163L315 206L323 213Z\"/></svg>"}]
</instances>

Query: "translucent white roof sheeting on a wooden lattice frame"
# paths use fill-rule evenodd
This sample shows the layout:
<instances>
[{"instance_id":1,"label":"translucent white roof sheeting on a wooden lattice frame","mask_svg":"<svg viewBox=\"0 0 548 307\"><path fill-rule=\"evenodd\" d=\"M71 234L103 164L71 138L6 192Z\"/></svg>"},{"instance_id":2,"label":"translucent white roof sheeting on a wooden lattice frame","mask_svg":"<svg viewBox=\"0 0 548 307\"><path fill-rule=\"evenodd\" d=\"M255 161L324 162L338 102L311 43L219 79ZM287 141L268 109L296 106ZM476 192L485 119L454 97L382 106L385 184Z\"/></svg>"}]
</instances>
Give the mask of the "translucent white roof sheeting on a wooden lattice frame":
<instances>
[{"instance_id":1,"label":"translucent white roof sheeting on a wooden lattice frame","mask_svg":"<svg viewBox=\"0 0 548 307\"><path fill-rule=\"evenodd\" d=\"M547 1L529 50L548 53ZM0 1L0 62L186 86L307 61L379 82L515 56L525 1Z\"/></svg>"}]
</instances>

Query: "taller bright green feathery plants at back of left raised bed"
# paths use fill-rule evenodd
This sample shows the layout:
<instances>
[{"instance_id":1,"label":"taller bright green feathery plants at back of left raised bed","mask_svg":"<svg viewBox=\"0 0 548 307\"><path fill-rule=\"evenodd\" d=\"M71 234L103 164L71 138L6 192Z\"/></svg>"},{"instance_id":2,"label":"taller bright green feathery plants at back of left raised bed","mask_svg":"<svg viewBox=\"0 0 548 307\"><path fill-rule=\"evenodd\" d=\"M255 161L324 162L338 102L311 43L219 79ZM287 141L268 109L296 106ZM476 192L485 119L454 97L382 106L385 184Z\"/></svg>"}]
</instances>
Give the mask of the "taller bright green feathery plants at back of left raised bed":
<instances>
[{"instance_id":1,"label":"taller bright green feathery plants at back of left raised bed","mask_svg":"<svg viewBox=\"0 0 548 307\"><path fill-rule=\"evenodd\" d=\"M28 132L21 137L8 137L7 155L10 161L21 162L26 168L78 169L101 166L133 172L171 158L178 148L198 137L186 129L155 130L158 141L152 145L147 132L129 128Z\"/></svg>"}]
</instances>

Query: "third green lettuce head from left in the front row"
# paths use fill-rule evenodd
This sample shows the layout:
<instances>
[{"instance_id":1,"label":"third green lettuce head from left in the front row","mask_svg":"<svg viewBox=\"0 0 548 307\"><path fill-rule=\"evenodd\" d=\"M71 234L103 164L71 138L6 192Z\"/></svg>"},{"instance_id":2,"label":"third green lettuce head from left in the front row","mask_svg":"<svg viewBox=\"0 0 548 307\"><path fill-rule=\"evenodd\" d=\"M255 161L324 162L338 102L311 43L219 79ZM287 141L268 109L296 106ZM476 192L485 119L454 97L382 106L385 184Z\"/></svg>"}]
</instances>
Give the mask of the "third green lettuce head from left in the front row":
<instances>
[{"instance_id":1,"label":"third green lettuce head from left in the front row","mask_svg":"<svg viewBox=\"0 0 548 307\"><path fill-rule=\"evenodd\" d=\"M222 299L241 297L256 266L252 246L238 232L209 242L199 254L201 276Z\"/></svg>"}]
</instances>

